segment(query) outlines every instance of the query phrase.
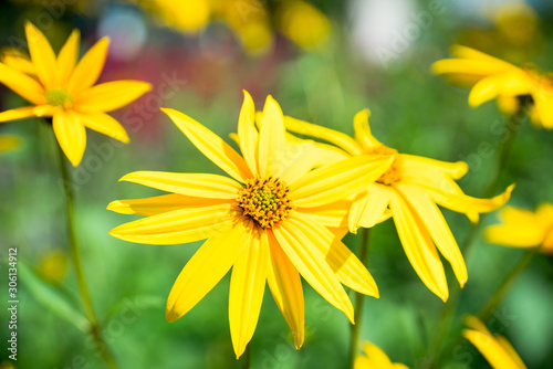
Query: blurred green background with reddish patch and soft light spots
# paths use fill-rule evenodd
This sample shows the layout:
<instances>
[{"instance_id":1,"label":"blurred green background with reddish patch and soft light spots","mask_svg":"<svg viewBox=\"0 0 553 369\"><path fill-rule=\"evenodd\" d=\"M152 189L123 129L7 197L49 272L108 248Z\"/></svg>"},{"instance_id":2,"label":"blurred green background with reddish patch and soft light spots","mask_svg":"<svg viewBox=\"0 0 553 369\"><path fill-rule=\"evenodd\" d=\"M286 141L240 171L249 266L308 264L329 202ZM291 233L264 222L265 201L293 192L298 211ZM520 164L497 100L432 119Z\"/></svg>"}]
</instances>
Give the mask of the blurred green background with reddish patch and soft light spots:
<instances>
[{"instance_id":1,"label":"blurred green background with reddish patch and soft light spots","mask_svg":"<svg viewBox=\"0 0 553 369\"><path fill-rule=\"evenodd\" d=\"M4 52L25 46L25 20L59 50L71 30L83 35L81 54L100 38L112 39L101 82L134 78L153 91L113 115L125 126L124 145L87 130L82 164L72 171L77 236L104 337L122 368L240 368L228 324L229 275L176 323L165 301L178 273L201 242L153 246L123 242L107 232L131 215L105 210L116 199L159 194L117 183L135 170L220 172L159 112L171 107L221 137L236 130L242 89L261 109L273 95L284 114L353 134L353 116L368 107L374 135L400 152L465 160L459 182L482 193L494 175L501 116L490 102L473 109L466 89L431 75L430 64L453 43L515 64L553 71L553 3L542 1L415 0L11 0L0 9ZM2 110L24 102L0 86ZM55 140L38 119L0 125L18 145L0 154L0 244L18 247L18 361L0 350L0 368L102 368L86 337L69 259ZM229 140L230 141L230 140ZM500 188L517 182L510 204L534 209L553 200L553 133L526 120L513 146ZM233 145L233 143L232 143ZM483 146L482 146L483 145ZM498 190L499 192L499 190ZM459 243L470 223L444 211ZM497 215L483 218L497 222ZM347 235L353 250L359 240ZM469 282L460 309L476 314L521 257L522 251L478 239L467 260ZM455 278L445 262L450 288ZM0 268L7 296L7 262ZM417 277L392 221L375 228L368 261L380 298L367 298L362 338L393 361L421 368L444 303ZM512 342L529 368L553 367L553 259L540 255L518 280L490 328ZM348 352L346 317L309 286L306 339L293 348L284 318L267 291L253 336L253 368L343 368ZM8 297L2 297L4 306ZM7 309L0 340L8 339ZM452 334L447 342L458 337ZM6 344L4 344L6 345ZM459 340L445 368L489 368ZM10 366L11 365L11 366Z\"/></svg>"}]
</instances>

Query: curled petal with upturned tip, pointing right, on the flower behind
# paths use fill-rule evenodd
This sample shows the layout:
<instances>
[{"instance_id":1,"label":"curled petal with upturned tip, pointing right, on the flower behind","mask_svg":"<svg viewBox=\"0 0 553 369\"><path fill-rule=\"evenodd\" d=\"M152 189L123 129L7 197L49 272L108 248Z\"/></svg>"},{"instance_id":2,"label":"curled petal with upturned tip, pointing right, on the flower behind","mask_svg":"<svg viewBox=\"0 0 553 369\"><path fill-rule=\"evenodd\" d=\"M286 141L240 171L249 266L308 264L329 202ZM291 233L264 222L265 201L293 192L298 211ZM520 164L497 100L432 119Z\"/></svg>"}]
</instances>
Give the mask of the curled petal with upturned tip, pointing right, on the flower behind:
<instances>
[{"instance_id":1,"label":"curled petal with upturned tip, pointing right, on the flower behind","mask_svg":"<svg viewBox=\"0 0 553 369\"><path fill-rule=\"evenodd\" d=\"M502 207L514 189L514 184L509 186L505 191L491 199L477 199L463 193L444 192L435 188L428 188L428 193L440 207L460 213L486 213Z\"/></svg>"}]
</instances>

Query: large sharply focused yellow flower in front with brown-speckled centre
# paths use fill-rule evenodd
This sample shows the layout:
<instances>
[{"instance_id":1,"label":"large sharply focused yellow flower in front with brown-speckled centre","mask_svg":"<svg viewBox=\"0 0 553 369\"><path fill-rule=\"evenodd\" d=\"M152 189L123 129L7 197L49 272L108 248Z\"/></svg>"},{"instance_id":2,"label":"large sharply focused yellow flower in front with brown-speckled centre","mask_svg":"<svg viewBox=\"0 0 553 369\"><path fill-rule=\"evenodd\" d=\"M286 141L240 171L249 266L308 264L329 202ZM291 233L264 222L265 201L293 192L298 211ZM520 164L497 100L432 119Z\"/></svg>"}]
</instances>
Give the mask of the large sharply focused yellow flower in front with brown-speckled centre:
<instances>
[{"instance_id":1,"label":"large sharply focused yellow flower in front with brown-speckled centre","mask_svg":"<svg viewBox=\"0 0 553 369\"><path fill-rule=\"evenodd\" d=\"M286 144L282 112L268 97L254 126L253 101L244 93L238 123L243 158L192 118L163 109L192 144L230 177L207 173L138 171L121 180L174 192L119 200L107 209L147 218L119 225L109 234L131 242L179 244L208 239L182 268L167 299L174 321L190 310L232 267L229 320L239 357L255 329L265 281L294 334L304 338L300 274L352 320L354 312L342 284L378 296L359 260L327 226L343 226L347 208L340 201L379 178L390 158L358 156L312 170L319 157L305 143Z\"/></svg>"}]
</instances>

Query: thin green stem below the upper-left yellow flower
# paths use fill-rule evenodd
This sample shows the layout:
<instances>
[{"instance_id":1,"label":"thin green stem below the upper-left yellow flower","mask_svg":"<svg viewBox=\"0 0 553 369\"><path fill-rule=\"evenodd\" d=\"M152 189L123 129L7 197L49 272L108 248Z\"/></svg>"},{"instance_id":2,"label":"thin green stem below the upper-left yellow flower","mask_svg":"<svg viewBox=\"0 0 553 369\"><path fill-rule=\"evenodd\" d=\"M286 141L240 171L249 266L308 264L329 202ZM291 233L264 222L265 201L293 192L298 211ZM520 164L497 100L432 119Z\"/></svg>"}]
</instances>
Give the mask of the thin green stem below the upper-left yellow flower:
<instances>
[{"instance_id":1,"label":"thin green stem below the upper-left yellow flower","mask_svg":"<svg viewBox=\"0 0 553 369\"><path fill-rule=\"evenodd\" d=\"M67 213L67 232L69 232L69 244L71 251L71 260L73 266L75 267L76 284L79 292L81 294L81 299L83 303L84 312L86 318L88 319L90 330L94 344L96 346L98 355L105 361L108 368L117 368L114 357L109 352L107 345L102 336L102 329L94 313L94 307L92 305L91 294L88 293L88 287L86 286L86 280L83 273L83 265L81 263L81 255L79 252L79 243L76 242L75 235L75 215L73 207L73 189L71 188L71 179L69 176L67 164L65 160L65 155L63 154L60 145L58 145L59 157L60 157L60 171L63 180L63 189L65 191L65 211Z\"/></svg>"}]
</instances>

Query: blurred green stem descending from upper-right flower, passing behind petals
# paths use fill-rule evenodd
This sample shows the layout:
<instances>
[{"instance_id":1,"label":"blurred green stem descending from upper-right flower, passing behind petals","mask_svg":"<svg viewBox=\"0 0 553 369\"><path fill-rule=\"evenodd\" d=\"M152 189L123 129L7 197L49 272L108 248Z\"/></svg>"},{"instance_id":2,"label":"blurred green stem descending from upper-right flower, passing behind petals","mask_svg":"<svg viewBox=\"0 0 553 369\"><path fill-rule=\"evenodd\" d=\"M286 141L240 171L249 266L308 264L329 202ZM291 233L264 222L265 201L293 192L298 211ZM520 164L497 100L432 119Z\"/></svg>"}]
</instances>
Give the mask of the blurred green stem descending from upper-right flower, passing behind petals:
<instances>
[{"instance_id":1,"label":"blurred green stem descending from upper-right flower, passing behind petals","mask_svg":"<svg viewBox=\"0 0 553 369\"><path fill-rule=\"evenodd\" d=\"M526 116L526 107L525 105L521 105L518 112L513 114L509 119L509 123L505 127L505 131L501 139L501 146L499 148L495 176L483 190L482 192L483 198L490 198L495 193L498 184L501 179L501 175L503 173L503 169L507 165L509 154L511 152L511 148L517 137L517 133L519 131L519 128L522 122L524 120L525 116ZM483 214L481 215L481 218L482 217ZM465 239L465 242L460 246L460 250L465 255L466 260L470 260L470 254L473 249L473 245L476 244L474 241L477 239L478 232L480 231L481 224L482 222L480 221L471 225L470 231L468 232L467 238ZM441 309L440 316L438 318L438 324L435 328L432 340L430 342L430 348L428 350L428 355L426 358L426 362L429 368L438 368L440 365L439 358L437 362L434 361L436 360L436 356L440 350L445 337L450 328L451 317L453 316L457 309L460 297L461 297L461 289L459 287L452 288L451 294L449 296L449 303L446 304Z\"/></svg>"}]
</instances>

